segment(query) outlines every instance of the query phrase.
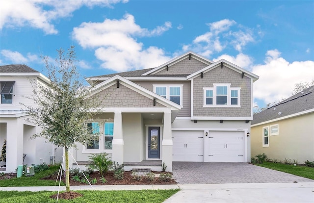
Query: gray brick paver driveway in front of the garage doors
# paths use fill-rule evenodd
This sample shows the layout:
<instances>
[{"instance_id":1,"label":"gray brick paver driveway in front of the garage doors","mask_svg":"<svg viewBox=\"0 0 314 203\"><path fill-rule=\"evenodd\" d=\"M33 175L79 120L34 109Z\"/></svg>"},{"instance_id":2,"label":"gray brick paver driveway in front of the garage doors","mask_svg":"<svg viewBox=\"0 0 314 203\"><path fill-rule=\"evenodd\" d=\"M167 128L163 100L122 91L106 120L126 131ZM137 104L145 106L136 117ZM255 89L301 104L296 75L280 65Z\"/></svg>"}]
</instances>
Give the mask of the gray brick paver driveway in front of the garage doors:
<instances>
[{"instance_id":1,"label":"gray brick paver driveway in front of the garage doors","mask_svg":"<svg viewBox=\"0 0 314 203\"><path fill-rule=\"evenodd\" d=\"M248 163L173 162L172 166L180 184L314 181Z\"/></svg>"}]
</instances>

